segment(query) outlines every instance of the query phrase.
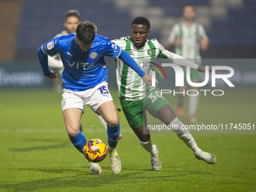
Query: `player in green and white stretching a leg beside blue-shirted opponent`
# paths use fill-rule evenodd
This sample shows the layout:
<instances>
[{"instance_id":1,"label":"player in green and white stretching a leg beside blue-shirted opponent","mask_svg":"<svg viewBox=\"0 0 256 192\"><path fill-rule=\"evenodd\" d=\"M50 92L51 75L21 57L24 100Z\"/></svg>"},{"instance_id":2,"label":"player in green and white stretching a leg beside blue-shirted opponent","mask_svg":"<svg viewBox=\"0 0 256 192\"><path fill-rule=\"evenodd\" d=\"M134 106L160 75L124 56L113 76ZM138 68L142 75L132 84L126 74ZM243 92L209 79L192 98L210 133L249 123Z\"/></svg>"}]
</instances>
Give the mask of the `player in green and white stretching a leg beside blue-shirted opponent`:
<instances>
[{"instance_id":1,"label":"player in green and white stretching a leg beside blue-shirted opponent","mask_svg":"<svg viewBox=\"0 0 256 192\"><path fill-rule=\"evenodd\" d=\"M190 62L175 53L169 52L156 39L148 40L149 32L150 23L148 19L145 17L136 17L132 23L132 36L116 39L114 43L119 45L126 53L130 54L145 73L151 72L151 65L148 63L153 62L157 56L170 59L179 66L190 66L191 69L197 70L198 72L205 72L204 66L198 66L194 62ZM162 164L157 146L152 144L150 133L146 129L147 121L144 109L152 114L153 117L157 117L163 121L166 125L178 126L178 130L174 130L175 133L194 151L195 157L199 160L206 161L206 163L214 164L216 157L198 148L197 143L189 131L181 129L184 124L175 116L169 102L160 95L159 89L157 87L146 86L139 78L139 75L136 75L136 72L133 72L120 59L117 59L116 62L120 105L133 132L138 136L140 144L151 154L152 169L160 170L162 169ZM158 94L156 94L157 92Z\"/></svg>"}]
</instances>

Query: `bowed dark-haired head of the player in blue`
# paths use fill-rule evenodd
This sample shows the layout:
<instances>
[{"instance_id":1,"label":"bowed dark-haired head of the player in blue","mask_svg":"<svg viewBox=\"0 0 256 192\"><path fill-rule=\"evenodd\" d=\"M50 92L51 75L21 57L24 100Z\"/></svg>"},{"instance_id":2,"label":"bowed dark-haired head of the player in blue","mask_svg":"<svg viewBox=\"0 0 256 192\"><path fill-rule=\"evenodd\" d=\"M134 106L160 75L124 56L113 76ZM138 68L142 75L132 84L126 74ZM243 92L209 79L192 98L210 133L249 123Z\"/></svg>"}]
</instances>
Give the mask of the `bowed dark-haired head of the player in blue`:
<instances>
[{"instance_id":1,"label":"bowed dark-haired head of the player in blue","mask_svg":"<svg viewBox=\"0 0 256 192\"><path fill-rule=\"evenodd\" d=\"M76 33L79 41L83 44L92 44L95 38L96 25L90 21L84 21L79 23Z\"/></svg>"}]
</instances>

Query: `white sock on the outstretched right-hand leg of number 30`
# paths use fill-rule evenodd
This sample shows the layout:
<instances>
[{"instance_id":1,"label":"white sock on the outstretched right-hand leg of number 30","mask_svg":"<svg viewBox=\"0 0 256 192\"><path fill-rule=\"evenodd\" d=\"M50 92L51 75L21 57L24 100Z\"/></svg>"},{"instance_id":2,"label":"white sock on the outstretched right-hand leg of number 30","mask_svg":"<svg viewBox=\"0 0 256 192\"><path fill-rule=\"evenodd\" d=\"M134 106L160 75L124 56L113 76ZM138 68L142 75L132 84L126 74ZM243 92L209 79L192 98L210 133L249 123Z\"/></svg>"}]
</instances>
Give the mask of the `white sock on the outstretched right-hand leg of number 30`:
<instances>
[{"instance_id":1,"label":"white sock on the outstretched right-hand leg of number 30","mask_svg":"<svg viewBox=\"0 0 256 192\"><path fill-rule=\"evenodd\" d=\"M184 124L180 120L178 120L178 117L172 120L170 126L172 125L174 127L178 126L178 130L174 129L173 131L177 134L178 138L181 139L190 149L192 149L193 151L197 151L199 149L189 130L182 130L182 128L184 128Z\"/></svg>"}]
</instances>

